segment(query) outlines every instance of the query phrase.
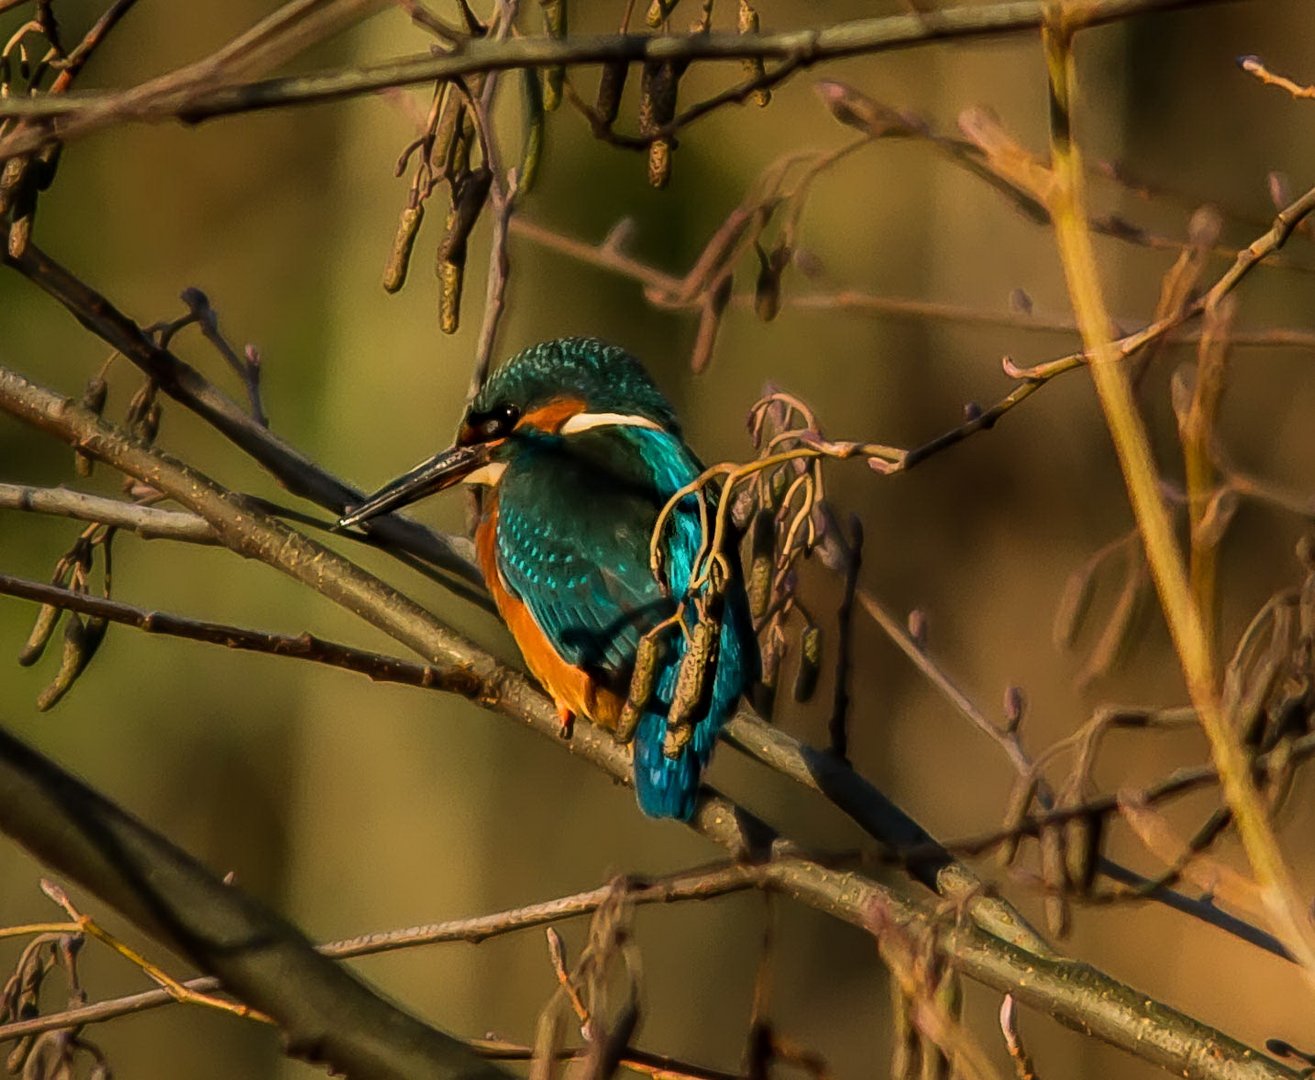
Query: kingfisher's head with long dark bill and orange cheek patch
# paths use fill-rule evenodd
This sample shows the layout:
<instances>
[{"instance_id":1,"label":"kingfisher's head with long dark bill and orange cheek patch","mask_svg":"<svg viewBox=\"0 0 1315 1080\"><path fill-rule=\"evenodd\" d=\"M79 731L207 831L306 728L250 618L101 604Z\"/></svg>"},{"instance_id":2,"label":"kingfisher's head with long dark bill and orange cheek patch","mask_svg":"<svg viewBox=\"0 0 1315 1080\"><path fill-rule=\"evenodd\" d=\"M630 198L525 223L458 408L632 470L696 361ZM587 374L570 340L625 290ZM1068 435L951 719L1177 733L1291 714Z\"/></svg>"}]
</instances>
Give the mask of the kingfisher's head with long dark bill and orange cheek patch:
<instances>
[{"instance_id":1,"label":"kingfisher's head with long dark bill and orange cheek patch","mask_svg":"<svg viewBox=\"0 0 1315 1080\"><path fill-rule=\"evenodd\" d=\"M531 346L484 384L452 446L385 484L338 526L358 525L462 481L497 484L529 441L609 425L680 433L671 403L623 349L596 338Z\"/></svg>"}]
</instances>

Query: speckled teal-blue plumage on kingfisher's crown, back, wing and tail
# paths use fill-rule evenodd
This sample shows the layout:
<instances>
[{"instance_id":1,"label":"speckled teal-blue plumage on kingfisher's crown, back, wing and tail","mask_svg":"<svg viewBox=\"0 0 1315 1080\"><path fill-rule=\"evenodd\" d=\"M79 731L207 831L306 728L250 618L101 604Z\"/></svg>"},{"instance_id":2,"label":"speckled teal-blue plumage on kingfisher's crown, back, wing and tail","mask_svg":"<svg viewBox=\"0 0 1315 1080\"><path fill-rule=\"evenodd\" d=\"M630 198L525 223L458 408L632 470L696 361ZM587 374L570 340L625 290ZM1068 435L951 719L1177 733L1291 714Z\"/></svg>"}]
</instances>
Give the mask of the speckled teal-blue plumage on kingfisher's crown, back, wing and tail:
<instances>
[{"instance_id":1,"label":"speckled teal-blue plumage on kingfisher's crown, back, wing and tail","mask_svg":"<svg viewBox=\"0 0 1315 1080\"><path fill-rule=\"evenodd\" d=\"M518 370L522 364L525 371ZM498 485L504 583L565 660L625 696L640 635L672 614L684 595L700 545L696 501L686 499L664 533L667 592L650 571L650 535L661 506L701 466L681 439L669 404L629 354L588 339L550 342L509 362L484 396L488 405L533 400L537 380L565 383L564 392L588 400L590 412L646 416L663 425L604 426L567 438L519 434ZM600 392L600 383L610 389ZM672 630L664 641L656 691L635 733L635 793L646 814L688 820L717 735L756 675L757 649L740 583L732 581L726 595L706 708L675 759L663 754L663 738L685 638Z\"/></svg>"}]
</instances>

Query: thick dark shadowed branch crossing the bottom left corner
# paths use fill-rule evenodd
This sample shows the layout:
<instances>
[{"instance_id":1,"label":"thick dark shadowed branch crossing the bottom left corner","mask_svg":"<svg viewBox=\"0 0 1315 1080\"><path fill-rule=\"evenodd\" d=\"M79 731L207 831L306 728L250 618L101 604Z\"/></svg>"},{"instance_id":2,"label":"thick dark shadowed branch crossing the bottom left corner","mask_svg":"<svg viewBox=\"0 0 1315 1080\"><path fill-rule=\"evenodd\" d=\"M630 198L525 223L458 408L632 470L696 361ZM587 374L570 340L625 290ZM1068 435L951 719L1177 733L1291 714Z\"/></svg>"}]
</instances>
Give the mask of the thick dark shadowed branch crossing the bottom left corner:
<instances>
[{"instance_id":1,"label":"thick dark shadowed branch crossing the bottom left corner","mask_svg":"<svg viewBox=\"0 0 1315 1080\"><path fill-rule=\"evenodd\" d=\"M4 730L0 829L214 972L279 1025L296 1056L396 1080L506 1075L384 1001L291 923Z\"/></svg>"}]
</instances>

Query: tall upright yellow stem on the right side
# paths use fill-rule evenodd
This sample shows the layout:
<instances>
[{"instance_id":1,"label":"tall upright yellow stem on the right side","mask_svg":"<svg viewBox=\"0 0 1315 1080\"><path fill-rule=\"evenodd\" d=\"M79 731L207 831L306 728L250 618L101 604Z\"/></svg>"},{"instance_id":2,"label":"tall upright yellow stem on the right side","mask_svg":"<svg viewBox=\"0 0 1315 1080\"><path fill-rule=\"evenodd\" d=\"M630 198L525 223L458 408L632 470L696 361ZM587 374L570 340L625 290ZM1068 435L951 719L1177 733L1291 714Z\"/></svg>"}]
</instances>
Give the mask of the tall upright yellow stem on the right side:
<instances>
[{"instance_id":1,"label":"tall upright yellow stem on the right side","mask_svg":"<svg viewBox=\"0 0 1315 1080\"><path fill-rule=\"evenodd\" d=\"M1315 926L1283 862L1265 802L1253 783L1251 762L1236 731L1219 706L1214 658L1206 627L1191 600L1173 526L1160 499L1159 480L1141 416L1136 409L1119 350L1110 337L1110 317L1101 293L1088 229L1082 191L1082 162L1069 137L1073 86L1072 24L1063 0L1052 4L1043 28L1051 79L1051 153L1053 187L1049 193L1055 233L1064 262L1073 312L1091 355L1091 379L1123 468L1132 512L1145 545L1160 604L1182 666L1191 702L1210 739L1211 755L1232 809L1247 858L1260 885L1274 931L1315 979Z\"/></svg>"}]
</instances>

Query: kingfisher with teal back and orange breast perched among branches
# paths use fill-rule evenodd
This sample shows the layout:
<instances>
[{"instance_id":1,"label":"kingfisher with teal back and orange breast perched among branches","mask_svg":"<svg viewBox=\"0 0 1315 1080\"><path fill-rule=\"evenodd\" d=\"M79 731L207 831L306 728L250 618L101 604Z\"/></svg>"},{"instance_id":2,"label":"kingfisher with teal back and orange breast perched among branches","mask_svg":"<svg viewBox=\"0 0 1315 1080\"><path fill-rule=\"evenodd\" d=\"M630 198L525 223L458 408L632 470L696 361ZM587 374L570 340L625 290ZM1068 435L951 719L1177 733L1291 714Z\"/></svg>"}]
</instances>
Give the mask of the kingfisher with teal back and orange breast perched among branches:
<instances>
[{"instance_id":1,"label":"kingfisher with teal back and orange breast perched among branches","mask_svg":"<svg viewBox=\"0 0 1315 1080\"><path fill-rule=\"evenodd\" d=\"M639 808L688 821L717 735L759 664L735 552L710 552L705 535L717 495L705 492L701 508L689 491L702 472L638 359L594 338L562 338L497 368L450 449L338 525L480 485L480 571L563 731L585 717L630 742ZM710 564L719 571L694 574Z\"/></svg>"}]
</instances>

